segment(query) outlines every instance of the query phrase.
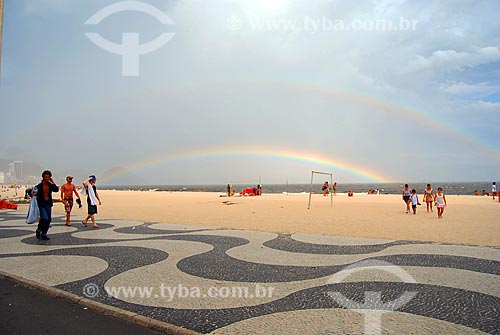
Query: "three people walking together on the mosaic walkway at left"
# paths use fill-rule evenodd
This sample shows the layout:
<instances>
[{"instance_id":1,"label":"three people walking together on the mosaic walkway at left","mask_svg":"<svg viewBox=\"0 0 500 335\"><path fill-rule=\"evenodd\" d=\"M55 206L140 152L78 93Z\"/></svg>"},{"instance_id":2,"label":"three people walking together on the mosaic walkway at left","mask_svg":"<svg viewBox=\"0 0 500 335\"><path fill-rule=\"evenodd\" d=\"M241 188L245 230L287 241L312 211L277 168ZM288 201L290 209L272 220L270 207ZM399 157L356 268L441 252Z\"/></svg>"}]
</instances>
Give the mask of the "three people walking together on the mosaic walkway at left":
<instances>
[{"instance_id":1,"label":"three people walking together on the mosaic walkway at left","mask_svg":"<svg viewBox=\"0 0 500 335\"><path fill-rule=\"evenodd\" d=\"M97 193L96 187L97 178L94 175L89 176L88 179L82 182L83 189L85 190L87 196L87 216L83 219L82 224L88 227L88 220L92 221L94 228L99 228L95 222L95 214L97 214L97 205L101 205L101 198ZM61 191L61 201L64 204L66 211L66 226L71 227L70 216L71 210L73 209L73 194L76 195L76 203L80 208L82 207L82 202L80 195L77 192L76 186L73 184L73 176L66 177L66 183L60 188L56 185L54 179L52 178L52 172L45 170L42 172L42 181L33 187L31 190L31 197L35 197L37 201L37 206L39 210L40 219L38 220L38 227L35 232L35 236L39 240L50 240L47 233L50 228L50 223L52 222L52 206L53 199L52 193L57 193ZM31 206L31 205L30 205Z\"/></svg>"}]
</instances>

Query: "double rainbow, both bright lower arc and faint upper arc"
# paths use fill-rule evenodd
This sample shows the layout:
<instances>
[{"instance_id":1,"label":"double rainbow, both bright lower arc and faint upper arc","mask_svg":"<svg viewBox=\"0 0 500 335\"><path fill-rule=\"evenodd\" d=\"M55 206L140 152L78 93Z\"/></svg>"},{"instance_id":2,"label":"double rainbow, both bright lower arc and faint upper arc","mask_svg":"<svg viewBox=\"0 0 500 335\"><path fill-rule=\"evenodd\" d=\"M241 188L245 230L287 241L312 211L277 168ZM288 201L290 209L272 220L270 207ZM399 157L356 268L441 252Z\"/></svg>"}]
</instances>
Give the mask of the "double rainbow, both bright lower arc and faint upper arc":
<instances>
[{"instance_id":1,"label":"double rainbow, both bright lower arc and faint upper arc","mask_svg":"<svg viewBox=\"0 0 500 335\"><path fill-rule=\"evenodd\" d=\"M460 127L451 120L447 120L439 113L432 114L428 110L422 108L407 106L403 102L388 101L386 97L377 97L358 92L349 91L340 88L331 88L303 83L290 82L274 82L274 81L254 81L240 83L252 87L268 87L269 89L283 89L292 92L312 93L321 96L333 97L341 101L346 101L355 105L364 106L368 110L382 111L391 114L400 119L408 120L412 123L419 124L423 129L432 129L436 132L436 136L444 135L453 141L459 142L474 152L484 154L490 160L500 163L500 151L497 145L488 143L482 140L475 134ZM230 156L260 156L273 157L279 159L295 160L307 162L316 165L348 172L351 175L361 177L363 180L372 182L388 182L392 178L383 176L381 173L372 171L366 168L356 166L342 159L332 160L321 154L311 154L309 152L298 152L290 149L273 149L273 148L252 148L252 147L233 147L228 149L222 148L202 148L185 152L177 152L170 154L160 154L143 159L142 161L125 166L123 170L111 172L104 177L108 180L113 177L125 174L127 171L137 171L146 167L155 166L157 164L166 164L173 161L210 158L210 157L230 157Z\"/></svg>"}]
</instances>

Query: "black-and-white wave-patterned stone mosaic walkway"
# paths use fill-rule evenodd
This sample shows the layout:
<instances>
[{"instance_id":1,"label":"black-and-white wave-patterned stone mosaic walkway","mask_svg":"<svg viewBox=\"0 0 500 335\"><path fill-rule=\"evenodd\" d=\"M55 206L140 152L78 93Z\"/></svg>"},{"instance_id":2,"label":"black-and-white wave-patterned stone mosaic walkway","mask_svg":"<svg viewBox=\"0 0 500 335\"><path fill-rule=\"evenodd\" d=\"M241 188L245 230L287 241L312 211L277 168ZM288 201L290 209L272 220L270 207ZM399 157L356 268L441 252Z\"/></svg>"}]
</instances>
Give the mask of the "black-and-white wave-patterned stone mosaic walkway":
<instances>
[{"instance_id":1,"label":"black-and-white wave-patterned stone mosaic walkway","mask_svg":"<svg viewBox=\"0 0 500 335\"><path fill-rule=\"evenodd\" d=\"M2 211L0 271L172 333L500 334L500 249L99 223Z\"/></svg>"}]
</instances>

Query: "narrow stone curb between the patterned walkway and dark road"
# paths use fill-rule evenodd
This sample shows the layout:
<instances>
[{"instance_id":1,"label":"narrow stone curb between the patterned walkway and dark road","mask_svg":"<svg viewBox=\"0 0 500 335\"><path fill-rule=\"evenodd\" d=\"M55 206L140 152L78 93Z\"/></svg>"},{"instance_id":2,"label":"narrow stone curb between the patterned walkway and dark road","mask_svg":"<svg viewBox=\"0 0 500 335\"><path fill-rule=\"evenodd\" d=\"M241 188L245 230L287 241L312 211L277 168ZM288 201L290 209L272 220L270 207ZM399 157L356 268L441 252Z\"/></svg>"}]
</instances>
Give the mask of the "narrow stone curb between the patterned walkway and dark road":
<instances>
[{"instance_id":1,"label":"narrow stone curb between the patterned walkway and dark road","mask_svg":"<svg viewBox=\"0 0 500 335\"><path fill-rule=\"evenodd\" d=\"M201 335L201 333L175 326L173 324L155 320L147 316L143 316L134 312L130 312L118 307L109 306L101 302L97 302L88 298L80 297L76 294L60 290L58 288L47 286L44 284L37 283L33 280L29 280L23 277L19 277L10 273L0 271L0 279L8 280L24 286L26 288L37 290L45 295L52 296L58 299L62 299L83 307L87 307L97 313L112 316L117 319L121 319L145 328L153 329L168 335Z\"/></svg>"}]
</instances>

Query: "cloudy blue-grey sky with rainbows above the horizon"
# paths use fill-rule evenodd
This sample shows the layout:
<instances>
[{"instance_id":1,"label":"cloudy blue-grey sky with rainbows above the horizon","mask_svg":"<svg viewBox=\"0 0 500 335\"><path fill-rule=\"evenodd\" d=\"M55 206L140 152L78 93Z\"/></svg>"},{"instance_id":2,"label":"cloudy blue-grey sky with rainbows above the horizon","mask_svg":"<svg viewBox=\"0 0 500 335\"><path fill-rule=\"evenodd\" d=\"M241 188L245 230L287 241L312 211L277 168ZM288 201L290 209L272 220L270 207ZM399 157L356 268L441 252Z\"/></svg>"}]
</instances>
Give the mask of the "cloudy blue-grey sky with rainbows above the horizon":
<instances>
[{"instance_id":1,"label":"cloudy blue-grey sky with rainbows above the horizon","mask_svg":"<svg viewBox=\"0 0 500 335\"><path fill-rule=\"evenodd\" d=\"M500 180L499 47L497 0L5 0L0 158L103 184Z\"/></svg>"}]
</instances>

